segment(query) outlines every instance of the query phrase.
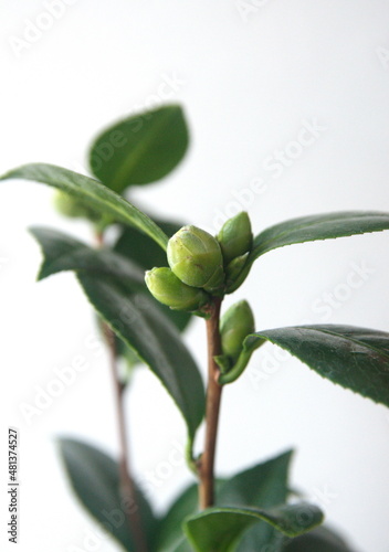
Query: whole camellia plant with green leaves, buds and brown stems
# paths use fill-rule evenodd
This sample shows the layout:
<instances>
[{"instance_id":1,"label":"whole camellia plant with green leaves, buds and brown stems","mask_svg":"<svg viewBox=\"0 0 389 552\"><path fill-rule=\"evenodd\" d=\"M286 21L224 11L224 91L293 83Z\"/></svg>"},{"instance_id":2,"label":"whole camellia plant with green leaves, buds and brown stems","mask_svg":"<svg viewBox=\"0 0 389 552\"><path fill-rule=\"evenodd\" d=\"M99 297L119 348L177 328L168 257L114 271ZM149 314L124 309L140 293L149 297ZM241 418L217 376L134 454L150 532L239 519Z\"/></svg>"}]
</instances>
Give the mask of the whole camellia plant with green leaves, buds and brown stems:
<instances>
[{"instance_id":1,"label":"whole camellia plant with green leaves, buds and brown stems","mask_svg":"<svg viewBox=\"0 0 389 552\"><path fill-rule=\"evenodd\" d=\"M129 552L350 552L340 537L319 527L323 513L316 506L293 496L292 452L228 479L214 474L220 402L224 386L271 341L333 383L389 405L389 333L330 325L257 330L246 300L227 311L222 305L270 251L388 230L389 214L303 216L255 236L245 212L228 220L215 236L193 225L153 220L127 200L130 187L168 174L187 146L182 110L165 106L115 124L97 137L90 152L95 178L39 163L2 177L59 189L57 209L88 220L96 236L90 246L55 230L31 229L44 257L39 279L75 272L111 352L120 457L114 460L88 444L61 439L72 487ZM108 244L106 232L113 224L118 237ZM206 386L180 335L192 317L207 326ZM125 374L118 370L119 359L126 360ZM139 364L161 381L186 422L186 457L196 478L161 517L155 516L129 470L123 399L128 374ZM202 422L206 437L196 455ZM107 522L106 512L115 512L115 522Z\"/></svg>"}]
</instances>

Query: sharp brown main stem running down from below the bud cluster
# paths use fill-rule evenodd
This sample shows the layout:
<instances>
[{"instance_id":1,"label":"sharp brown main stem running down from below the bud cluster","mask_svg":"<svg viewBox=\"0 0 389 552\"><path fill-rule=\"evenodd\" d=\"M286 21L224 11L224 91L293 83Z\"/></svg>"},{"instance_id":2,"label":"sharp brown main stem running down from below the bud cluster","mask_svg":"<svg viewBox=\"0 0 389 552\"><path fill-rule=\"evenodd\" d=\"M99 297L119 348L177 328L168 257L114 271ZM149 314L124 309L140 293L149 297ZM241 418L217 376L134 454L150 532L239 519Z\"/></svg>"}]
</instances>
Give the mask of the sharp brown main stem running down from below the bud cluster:
<instances>
[{"instance_id":1,"label":"sharp brown main stem running down from below the bud cluster","mask_svg":"<svg viewBox=\"0 0 389 552\"><path fill-rule=\"evenodd\" d=\"M218 383L219 367L213 357L221 354L221 339L219 330L221 299L215 299L211 317L207 320L208 341L208 390L206 406L206 443L204 452L199 460L199 506L209 508L214 501L214 457L217 447L219 412L222 388Z\"/></svg>"}]
</instances>

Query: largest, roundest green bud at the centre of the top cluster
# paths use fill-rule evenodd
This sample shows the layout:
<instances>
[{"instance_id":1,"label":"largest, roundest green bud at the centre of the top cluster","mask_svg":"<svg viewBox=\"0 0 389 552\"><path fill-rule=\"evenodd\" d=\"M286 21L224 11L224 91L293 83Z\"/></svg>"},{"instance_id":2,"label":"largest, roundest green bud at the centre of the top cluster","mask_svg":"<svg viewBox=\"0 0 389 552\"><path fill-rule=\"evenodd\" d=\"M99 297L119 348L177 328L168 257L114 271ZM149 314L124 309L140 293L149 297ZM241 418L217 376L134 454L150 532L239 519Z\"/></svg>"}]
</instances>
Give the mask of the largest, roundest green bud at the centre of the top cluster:
<instances>
[{"instance_id":1,"label":"largest, roundest green bud at the centre of the top cluster","mask_svg":"<svg viewBox=\"0 0 389 552\"><path fill-rule=\"evenodd\" d=\"M168 263L176 276L193 287L217 291L224 282L218 241L196 226L183 226L168 243Z\"/></svg>"}]
</instances>

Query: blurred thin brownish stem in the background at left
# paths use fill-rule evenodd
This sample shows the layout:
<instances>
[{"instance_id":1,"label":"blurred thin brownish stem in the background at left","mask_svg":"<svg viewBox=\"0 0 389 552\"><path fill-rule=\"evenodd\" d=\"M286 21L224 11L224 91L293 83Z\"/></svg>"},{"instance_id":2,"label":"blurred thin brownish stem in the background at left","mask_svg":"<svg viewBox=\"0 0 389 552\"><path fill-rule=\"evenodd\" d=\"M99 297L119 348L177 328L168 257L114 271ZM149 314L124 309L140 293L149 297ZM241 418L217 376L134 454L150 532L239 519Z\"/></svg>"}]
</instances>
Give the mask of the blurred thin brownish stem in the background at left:
<instances>
[{"instance_id":1,"label":"blurred thin brownish stem in the background at left","mask_svg":"<svg viewBox=\"0 0 389 552\"><path fill-rule=\"evenodd\" d=\"M115 388L116 411L118 421L120 458L119 458L119 478L122 491L122 505L127 514L130 532L134 540L136 552L147 552L147 544L141 526L139 506L137 503L136 488L134 478L130 475L130 464L128 458L128 445L126 435L125 410L124 410L124 390L116 362L115 335L112 329L104 323L104 335L109 350L109 364Z\"/></svg>"}]
</instances>

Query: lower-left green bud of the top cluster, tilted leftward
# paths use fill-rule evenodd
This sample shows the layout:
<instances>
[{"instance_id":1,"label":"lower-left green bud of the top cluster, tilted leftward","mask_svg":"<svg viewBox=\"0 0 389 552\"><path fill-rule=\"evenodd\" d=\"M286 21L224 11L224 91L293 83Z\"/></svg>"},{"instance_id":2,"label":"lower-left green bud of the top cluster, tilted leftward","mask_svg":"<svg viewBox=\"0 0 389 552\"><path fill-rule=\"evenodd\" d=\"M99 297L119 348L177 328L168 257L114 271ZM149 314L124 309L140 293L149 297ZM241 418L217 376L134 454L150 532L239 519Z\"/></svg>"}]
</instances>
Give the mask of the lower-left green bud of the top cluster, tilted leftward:
<instances>
[{"instance_id":1,"label":"lower-left green bud of the top cluster, tilted leftward","mask_svg":"<svg viewBox=\"0 0 389 552\"><path fill-rule=\"evenodd\" d=\"M209 300L202 289L187 286L165 266L147 270L145 279L151 295L175 310L198 310Z\"/></svg>"}]
</instances>

